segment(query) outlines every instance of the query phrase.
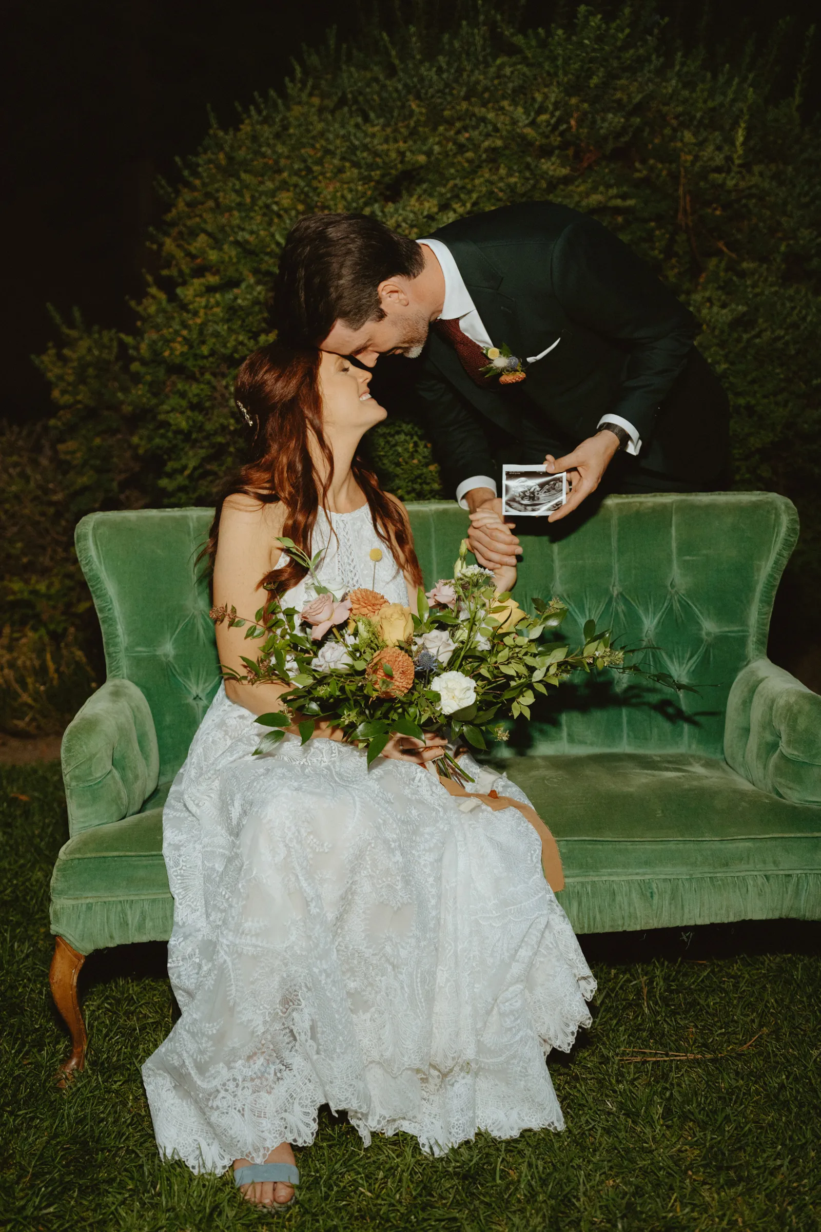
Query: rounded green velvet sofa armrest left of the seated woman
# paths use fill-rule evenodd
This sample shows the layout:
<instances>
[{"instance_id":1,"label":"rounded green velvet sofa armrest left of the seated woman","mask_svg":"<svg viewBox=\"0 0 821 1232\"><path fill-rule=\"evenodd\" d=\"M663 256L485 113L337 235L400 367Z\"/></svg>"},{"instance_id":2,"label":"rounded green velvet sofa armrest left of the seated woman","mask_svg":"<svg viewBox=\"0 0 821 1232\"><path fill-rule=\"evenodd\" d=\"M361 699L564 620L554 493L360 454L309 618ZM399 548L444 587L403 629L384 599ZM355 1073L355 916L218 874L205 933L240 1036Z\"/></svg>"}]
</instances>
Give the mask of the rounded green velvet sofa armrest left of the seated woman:
<instances>
[{"instance_id":1,"label":"rounded green velvet sofa armrest left of the seated woman","mask_svg":"<svg viewBox=\"0 0 821 1232\"><path fill-rule=\"evenodd\" d=\"M130 680L107 680L63 736L63 782L71 835L139 812L156 787L154 718Z\"/></svg>"}]
</instances>

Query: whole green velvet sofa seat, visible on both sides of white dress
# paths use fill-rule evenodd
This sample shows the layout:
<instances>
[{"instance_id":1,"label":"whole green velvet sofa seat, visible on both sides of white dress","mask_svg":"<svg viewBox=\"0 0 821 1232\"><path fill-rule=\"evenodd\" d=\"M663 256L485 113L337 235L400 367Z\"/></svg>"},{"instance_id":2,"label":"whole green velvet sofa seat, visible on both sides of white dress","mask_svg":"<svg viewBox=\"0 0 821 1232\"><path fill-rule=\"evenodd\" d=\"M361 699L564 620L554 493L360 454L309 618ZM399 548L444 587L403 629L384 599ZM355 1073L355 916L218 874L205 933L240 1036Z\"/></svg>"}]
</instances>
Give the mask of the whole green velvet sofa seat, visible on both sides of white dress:
<instances>
[{"instance_id":1,"label":"whole green velvet sofa seat, visible on both sides of white dress","mask_svg":"<svg viewBox=\"0 0 821 1232\"><path fill-rule=\"evenodd\" d=\"M599 753L497 765L556 837L559 898L577 933L821 917L821 808L759 791L725 761ZM167 790L62 849L52 931L80 952L169 938Z\"/></svg>"}]
</instances>

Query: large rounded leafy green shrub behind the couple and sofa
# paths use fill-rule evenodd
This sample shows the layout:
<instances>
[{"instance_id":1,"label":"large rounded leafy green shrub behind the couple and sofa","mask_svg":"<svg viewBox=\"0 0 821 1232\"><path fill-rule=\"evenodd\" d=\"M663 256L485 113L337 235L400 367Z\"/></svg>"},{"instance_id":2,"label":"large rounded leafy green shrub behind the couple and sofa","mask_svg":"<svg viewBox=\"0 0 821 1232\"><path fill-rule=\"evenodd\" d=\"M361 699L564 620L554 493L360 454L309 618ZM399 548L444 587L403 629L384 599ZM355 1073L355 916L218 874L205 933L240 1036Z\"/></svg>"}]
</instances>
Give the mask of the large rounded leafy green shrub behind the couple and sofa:
<instances>
[{"instance_id":1,"label":"large rounded leafy green shrub behind the couple and sofa","mask_svg":"<svg viewBox=\"0 0 821 1232\"><path fill-rule=\"evenodd\" d=\"M412 30L394 43L372 31L364 49L308 55L281 97L214 127L185 165L132 336L75 322L43 360L71 508L212 499L242 452L233 373L271 336L268 287L303 212L366 211L421 237L547 197L599 218L693 307L732 399L736 482L790 495L811 546L819 128L798 95L771 96L777 48L715 71L641 12L582 6L547 31L485 15L433 51ZM437 495L412 395L399 409L373 458L399 494ZM804 568L817 589L817 553Z\"/></svg>"}]
</instances>

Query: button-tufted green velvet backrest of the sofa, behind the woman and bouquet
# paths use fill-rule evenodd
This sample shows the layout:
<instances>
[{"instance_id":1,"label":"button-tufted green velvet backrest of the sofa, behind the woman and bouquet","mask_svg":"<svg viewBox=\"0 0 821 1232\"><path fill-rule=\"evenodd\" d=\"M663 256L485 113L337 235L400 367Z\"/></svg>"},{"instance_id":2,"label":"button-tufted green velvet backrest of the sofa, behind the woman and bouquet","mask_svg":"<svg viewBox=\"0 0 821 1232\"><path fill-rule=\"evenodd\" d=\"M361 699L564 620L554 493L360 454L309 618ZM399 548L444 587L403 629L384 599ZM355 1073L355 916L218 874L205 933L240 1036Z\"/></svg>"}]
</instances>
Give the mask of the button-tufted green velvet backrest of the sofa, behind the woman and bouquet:
<instances>
[{"instance_id":1,"label":"button-tufted green velvet backrest of the sofa, behind the woman and bouquet","mask_svg":"<svg viewBox=\"0 0 821 1232\"><path fill-rule=\"evenodd\" d=\"M409 514L431 585L451 574L465 514L452 501L409 505ZM103 513L76 529L108 676L132 680L148 700L160 782L182 764L219 685L208 585L202 565L194 568L210 517L209 509ZM571 532L524 517L517 532L523 606L533 596L563 599L570 609L563 639L571 643L592 617L624 644L656 644L654 667L699 692L676 697L629 679L563 686L561 708L522 724L512 744L721 756L730 687L767 652L775 589L798 535L791 503L772 493L609 496Z\"/></svg>"}]
</instances>

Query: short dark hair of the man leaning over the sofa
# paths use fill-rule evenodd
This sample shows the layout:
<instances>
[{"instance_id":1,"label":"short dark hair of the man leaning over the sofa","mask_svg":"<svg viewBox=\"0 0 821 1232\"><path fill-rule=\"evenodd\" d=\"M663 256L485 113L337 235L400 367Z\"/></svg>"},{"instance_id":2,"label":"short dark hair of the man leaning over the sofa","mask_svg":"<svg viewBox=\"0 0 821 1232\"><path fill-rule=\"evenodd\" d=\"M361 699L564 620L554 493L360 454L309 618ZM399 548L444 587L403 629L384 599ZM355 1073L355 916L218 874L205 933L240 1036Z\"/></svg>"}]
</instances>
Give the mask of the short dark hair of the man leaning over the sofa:
<instances>
[{"instance_id":1,"label":"short dark hair of the man leaning over the sofa","mask_svg":"<svg viewBox=\"0 0 821 1232\"><path fill-rule=\"evenodd\" d=\"M367 214L308 214L290 228L273 290L273 325L292 346L316 346L335 320L361 329L385 315L377 288L415 278L419 244Z\"/></svg>"}]
</instances>

